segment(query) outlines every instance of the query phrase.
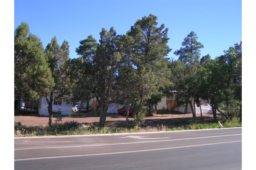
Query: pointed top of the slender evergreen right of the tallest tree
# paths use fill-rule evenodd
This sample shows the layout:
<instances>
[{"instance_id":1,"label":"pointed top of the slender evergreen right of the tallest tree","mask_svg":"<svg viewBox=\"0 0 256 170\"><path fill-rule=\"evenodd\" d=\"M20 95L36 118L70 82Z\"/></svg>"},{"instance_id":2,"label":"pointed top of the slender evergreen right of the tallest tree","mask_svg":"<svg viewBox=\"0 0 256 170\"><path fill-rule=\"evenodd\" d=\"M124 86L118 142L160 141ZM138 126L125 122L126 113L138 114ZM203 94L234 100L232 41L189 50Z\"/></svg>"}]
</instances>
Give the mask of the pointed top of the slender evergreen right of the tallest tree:
<instances>
[{"instance_id":1,"label":"pointed top of the slender evergreen right of the tallest tree","mask_svg":"<svg viewBox=\"0 0 256 170\"><path fill-rule=\"evenodd\" d=\"M199 62L201 48L204 46L197 41L197 36L194 31L191 31L182 42L180 50L176 50L174 55L179 56L180 61L184 61L185 64L191 64Z\"/></svg>"}]
</instances>

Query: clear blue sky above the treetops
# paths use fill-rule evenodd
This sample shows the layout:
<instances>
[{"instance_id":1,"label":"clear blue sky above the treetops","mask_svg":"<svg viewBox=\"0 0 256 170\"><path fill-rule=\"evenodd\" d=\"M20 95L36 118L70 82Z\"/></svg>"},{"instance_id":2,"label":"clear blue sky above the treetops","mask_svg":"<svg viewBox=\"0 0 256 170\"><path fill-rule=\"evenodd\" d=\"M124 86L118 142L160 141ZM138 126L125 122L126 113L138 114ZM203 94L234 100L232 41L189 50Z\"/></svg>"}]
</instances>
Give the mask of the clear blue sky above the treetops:
<instances>
[{"instance_id":1,"label":"clear blue sky above the treetops","mask_svg":"<svg viewBox=\"0 0 256 170\"><path fill-rule=\"evenodd\" d=\"M241 0L15 0L14 29L25 21L44 48L54 36L60 45L67 40L70 58L77 58L80 40L92 35L99 42L101 29L112 26L117 34L126 34L149 14L169 29L168 57L175 59L173 52L190 31L204 45L201 57L209 53L212 59L242 40Z\"/></svg>"}]
</instances>

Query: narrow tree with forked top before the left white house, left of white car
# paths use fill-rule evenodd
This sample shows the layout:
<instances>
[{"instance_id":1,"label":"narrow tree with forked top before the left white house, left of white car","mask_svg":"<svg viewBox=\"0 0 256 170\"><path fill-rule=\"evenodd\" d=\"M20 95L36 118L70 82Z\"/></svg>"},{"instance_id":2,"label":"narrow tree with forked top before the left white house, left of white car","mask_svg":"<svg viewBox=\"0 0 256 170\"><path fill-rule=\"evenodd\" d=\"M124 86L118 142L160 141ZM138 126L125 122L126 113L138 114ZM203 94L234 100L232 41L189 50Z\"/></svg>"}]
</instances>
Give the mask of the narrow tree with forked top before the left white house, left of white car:
<instances>
[{"instance_id":1,"label":"narrow tree with forked top before the left white house, left of white car","mask_svg":"<svg viewBox=\"0 0 256 170\"><path fill-rule=\"evenodd\" d=\"M47 90L44 97L48 103L49 127L52 126L52 104L54 100L63 100L69 103L70 79L69 79L69 43L64 40L61 46L58 45L54 36L45 48L45 58L54 78L54 87Z\"/></svg>"}]
</instances>

